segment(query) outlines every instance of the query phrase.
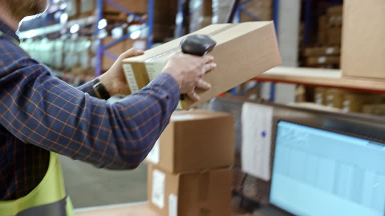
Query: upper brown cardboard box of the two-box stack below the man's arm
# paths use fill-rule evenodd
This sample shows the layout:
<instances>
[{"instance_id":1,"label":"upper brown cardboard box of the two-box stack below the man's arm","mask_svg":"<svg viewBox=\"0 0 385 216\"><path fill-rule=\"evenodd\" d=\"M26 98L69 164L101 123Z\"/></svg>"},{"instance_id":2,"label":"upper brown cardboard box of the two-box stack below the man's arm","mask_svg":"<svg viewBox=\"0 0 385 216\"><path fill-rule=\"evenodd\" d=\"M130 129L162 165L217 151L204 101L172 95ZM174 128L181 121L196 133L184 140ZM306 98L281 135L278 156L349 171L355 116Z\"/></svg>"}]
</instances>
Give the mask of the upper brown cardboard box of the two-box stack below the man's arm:
<instances>
[{"instance_id":1,"label":"upper brown cardboard box of the two-box stack below the man's arm","mask_svg":"<svg viewBox=\"0 0 385 216\"><path fill-rule=\"evenodd\" d=\"M146 161L170 173L234 163L234 119L224 112L175 111Z\"/></svg>"}]
</instances>

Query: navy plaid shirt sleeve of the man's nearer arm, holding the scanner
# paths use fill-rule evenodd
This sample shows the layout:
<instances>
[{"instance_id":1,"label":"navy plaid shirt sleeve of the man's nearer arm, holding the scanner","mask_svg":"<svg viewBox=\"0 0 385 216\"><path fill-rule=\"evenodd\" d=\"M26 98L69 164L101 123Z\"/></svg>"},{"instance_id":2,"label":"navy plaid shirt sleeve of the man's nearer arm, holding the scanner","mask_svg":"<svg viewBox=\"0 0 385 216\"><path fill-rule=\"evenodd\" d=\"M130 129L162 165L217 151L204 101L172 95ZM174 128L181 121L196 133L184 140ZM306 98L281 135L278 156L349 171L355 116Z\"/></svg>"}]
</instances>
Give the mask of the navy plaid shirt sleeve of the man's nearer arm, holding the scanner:
<instances>
[{"instance_id":1,"label":"navy plaid shirt sleeve of the man's nearer arm, holding the scanner","mask_svg":"<svg viewBox=\"0 0 385 216\"><path fill-rule=\"evenodd\" d=\"M0 56L0 124L25 143L98 167L135 168L179 100L169 74L109 104L52 77L11 42L0 41Z\"/></svg>"}]
</instances>

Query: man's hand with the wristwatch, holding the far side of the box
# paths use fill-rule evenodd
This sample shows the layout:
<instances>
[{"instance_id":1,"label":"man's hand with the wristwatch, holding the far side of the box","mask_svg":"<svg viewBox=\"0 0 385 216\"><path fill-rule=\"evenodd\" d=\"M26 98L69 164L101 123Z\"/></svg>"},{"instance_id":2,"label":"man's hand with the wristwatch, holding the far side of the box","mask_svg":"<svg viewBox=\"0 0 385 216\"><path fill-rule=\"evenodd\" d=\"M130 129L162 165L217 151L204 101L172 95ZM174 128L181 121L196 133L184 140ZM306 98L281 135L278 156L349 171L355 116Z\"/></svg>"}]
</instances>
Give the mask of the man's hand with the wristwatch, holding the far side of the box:
<instances>
[{"instance_id":1,"label":"man's hand with the wristwatch, holding the far side of the box","mask_svg":"<svg viewBox=\"0 0 385 216\"><path fill-rule=\"evenodd\" d=\"M107 72L99 76L99 80L103 83L104 87L111 96L116 94L129 94L130 87L128 86L126 77L124 76L123 67L120 63L124 58L141 55L143 53L144 52L142 50L137 50L136 48L128 49L118 57Z\"/></svg>"}]
</instances>

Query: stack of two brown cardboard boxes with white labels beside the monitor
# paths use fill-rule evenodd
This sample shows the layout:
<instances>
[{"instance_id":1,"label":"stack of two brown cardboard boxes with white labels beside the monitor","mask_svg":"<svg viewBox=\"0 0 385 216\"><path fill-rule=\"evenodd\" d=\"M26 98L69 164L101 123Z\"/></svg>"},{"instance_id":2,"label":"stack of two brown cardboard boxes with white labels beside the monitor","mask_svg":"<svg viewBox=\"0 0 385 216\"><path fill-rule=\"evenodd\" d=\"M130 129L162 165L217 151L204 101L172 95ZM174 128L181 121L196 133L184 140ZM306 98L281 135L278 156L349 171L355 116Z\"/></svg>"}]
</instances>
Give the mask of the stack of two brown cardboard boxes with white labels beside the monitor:
<instances>
[{"instance_id":1,"label":"stack of two brown cardboard boxes with white labels beside the monitor","mask_svg":"<svg viewBox=\"0 0 385 216\"><path fill-rule=\"evenodd\" d=\"M162 216L231 215L234 119L177 111L148 154L148 199Z\"/></svg>"}]
</instances>

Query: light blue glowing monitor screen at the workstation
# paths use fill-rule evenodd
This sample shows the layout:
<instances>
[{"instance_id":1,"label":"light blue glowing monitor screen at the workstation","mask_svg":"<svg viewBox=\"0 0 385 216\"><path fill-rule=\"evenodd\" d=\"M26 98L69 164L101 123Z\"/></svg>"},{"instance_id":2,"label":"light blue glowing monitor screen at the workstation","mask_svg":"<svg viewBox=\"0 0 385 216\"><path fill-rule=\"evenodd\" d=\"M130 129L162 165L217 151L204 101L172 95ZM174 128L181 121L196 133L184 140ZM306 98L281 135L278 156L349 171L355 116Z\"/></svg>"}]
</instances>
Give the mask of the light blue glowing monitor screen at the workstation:
<instances>
[{"instance_id":1,"label":"light blue glowing monitor screen at the workstation","mask_svg":"<svg viewBox=\"0 0 385 216\"><path fill-rule=\"evenodd\" d=\"M385 145L281 121L270 203L296 215L385 215Z\"/></svg>"}]
</instances>

